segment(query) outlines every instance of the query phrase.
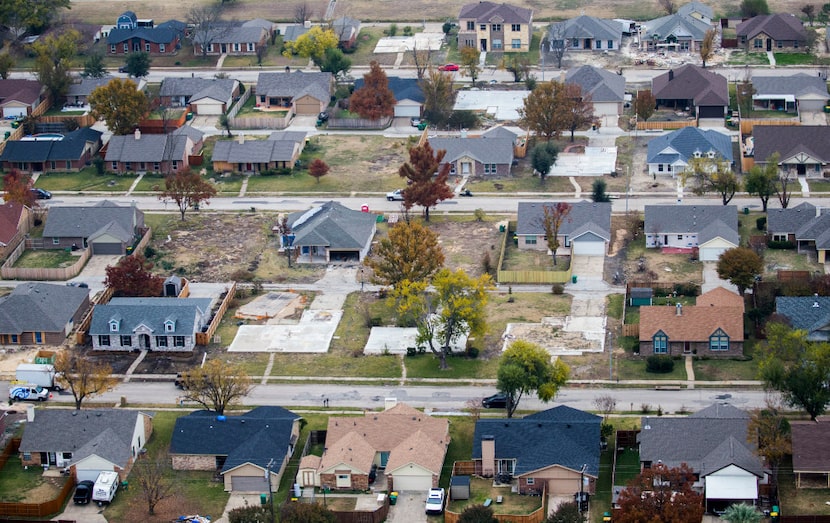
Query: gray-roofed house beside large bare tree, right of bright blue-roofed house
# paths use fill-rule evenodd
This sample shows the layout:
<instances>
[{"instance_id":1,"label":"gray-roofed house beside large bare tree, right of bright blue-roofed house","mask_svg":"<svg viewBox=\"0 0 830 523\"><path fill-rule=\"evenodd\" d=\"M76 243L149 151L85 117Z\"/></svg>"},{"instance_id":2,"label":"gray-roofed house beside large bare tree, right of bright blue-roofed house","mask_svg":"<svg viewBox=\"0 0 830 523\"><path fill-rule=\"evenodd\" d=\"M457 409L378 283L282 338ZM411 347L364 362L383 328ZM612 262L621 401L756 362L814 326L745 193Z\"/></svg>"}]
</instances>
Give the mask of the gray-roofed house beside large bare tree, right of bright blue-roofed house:
<instances>
[{"instance_id":1,"label":"gray-roofed house beside large bare tree, right of bright blue-roofed house","mask_svg":"<svg viewBox=\"0 0 830 523\"><path fill-rule=\"evenodd\" d=\"M266 22L263 24L262 22ZM208 31L196 31L193 54L197 56L255 56L271 36L270 22L262 19L247 22L217 22Z\"/></svg>"}]
</instances>

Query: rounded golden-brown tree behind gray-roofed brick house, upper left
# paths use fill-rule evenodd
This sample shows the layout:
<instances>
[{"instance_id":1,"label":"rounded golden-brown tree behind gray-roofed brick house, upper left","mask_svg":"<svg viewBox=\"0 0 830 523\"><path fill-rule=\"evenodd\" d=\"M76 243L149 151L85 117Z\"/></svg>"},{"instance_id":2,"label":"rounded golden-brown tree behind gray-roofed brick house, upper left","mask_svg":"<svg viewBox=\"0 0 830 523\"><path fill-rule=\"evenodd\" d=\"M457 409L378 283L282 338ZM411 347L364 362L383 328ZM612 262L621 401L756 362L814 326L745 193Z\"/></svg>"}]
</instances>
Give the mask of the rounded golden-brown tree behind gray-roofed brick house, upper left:
<instances>
[{"instance_id":1,"label":"rounded golden-brown tree behind gray-roofed brick house, upper left","mask_svg":"<svg viewBox=\"0 0 830 523\"><path fill-rule=\"evenodd\" d=\"M92 115L103 118L110 131L118 135L133 132L150 107L147 96L132 80L120 78L93 89L88 101Z\"/></svg>"}]
</instances>

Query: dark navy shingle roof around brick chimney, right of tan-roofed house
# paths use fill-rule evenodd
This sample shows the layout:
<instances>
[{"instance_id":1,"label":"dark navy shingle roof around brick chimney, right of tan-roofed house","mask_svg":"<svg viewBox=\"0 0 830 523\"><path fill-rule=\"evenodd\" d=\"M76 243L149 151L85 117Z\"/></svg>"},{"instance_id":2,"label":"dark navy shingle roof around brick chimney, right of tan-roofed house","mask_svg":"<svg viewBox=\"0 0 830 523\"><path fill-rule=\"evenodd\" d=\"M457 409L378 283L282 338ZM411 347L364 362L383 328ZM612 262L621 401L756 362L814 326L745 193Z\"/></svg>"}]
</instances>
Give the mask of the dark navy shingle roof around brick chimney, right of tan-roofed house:
<instances>
[{"instance_id":1,"label":"dark navy shingle roof around brick chimney, right of tan-roofed house","mask_svg":"<svg viewBox=\"0 0 830 523\"><path fill-rule=\"evenodd\" d=\"M473 459L481 459L481 441L495 440L496 459L515 459L517 476L561 465L599 475L601 418L583 418L565 413L539 412L521 419L482 419L476 422L473 435Z\"/></svg>"}]
</instances>

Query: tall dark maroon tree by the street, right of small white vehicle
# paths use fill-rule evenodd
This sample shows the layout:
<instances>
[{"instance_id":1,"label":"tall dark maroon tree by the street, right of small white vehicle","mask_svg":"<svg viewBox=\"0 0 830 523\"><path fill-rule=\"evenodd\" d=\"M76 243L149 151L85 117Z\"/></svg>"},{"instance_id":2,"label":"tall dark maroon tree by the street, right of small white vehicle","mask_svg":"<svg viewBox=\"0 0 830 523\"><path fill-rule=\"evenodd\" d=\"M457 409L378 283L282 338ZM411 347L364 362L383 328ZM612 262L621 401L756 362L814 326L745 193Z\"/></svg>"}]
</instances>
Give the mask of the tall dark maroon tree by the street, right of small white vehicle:
<instances>
[{"instance_id":1,"label":"tall dark maroon tree by the street, right of small white vehicle","mask_svg":"<svg viewBox=\"0 0 830 523\"><path fill-rule=\"evenodd\" d=\"M409 162L398 169L400 177L406 178L409 184L403 190L404 206L407 209L414 205L422 206L425 221L429 221L430 207L453 197L452 189L447 185L450 164L443 163L445 154L447 151L444 150L434 152L426 141L423 145L411 147Z\"/></svg>"}]
</instances>

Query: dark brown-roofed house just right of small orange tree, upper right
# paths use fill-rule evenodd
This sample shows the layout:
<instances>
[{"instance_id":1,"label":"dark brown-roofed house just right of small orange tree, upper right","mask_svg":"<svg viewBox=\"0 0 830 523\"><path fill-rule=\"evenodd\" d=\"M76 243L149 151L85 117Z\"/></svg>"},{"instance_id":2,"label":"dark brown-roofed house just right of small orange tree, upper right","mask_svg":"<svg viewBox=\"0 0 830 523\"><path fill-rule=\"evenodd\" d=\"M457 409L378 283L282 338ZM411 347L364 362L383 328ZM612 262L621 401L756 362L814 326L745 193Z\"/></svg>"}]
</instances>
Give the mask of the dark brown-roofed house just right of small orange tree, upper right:
<instances>
[{"instance_id":1,"label":"dark brown-roofed house just right of small orange tree, upper right","mask_svg":"<svg viewBox=\"0 0 830 523\"><path fill-rule=\"evenodd\" d=\"M688 110L698 119L723 119L729 107L726 78L693 64L656 76L651 86L658 107Z\"/></svg>"}]
</instances>

